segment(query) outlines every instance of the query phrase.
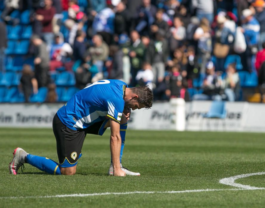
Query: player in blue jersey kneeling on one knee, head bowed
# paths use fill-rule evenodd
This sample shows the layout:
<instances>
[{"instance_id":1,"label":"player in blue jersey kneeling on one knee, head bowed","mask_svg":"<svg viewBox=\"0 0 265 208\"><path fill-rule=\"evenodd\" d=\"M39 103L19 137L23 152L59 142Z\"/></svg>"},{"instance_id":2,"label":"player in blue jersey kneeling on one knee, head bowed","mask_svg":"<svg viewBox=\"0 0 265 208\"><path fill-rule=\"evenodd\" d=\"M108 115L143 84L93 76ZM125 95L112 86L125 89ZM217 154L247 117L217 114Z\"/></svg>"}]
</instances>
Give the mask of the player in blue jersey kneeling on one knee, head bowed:
<instances>
[{"instance_id":1,"label":"player in blue jersey kneeling on one knee, head bowed","mask_svg":"<svg viewBox=\"0 0 265 208\"><path fill-rule=\"evenodd\" d=\"M52 122L57 143L59 163L47 158L28 154L16 148L9 165L10 174L16 175L24 164L55 175L73 175L86 134L103 135L111 129L111 165L109 175L140 175L121 164L127 120L131 109L151 108L152 91L146 86L128 88L120 80L100 80L77 92L55 114Z\"/></svg>"}]
</instances>

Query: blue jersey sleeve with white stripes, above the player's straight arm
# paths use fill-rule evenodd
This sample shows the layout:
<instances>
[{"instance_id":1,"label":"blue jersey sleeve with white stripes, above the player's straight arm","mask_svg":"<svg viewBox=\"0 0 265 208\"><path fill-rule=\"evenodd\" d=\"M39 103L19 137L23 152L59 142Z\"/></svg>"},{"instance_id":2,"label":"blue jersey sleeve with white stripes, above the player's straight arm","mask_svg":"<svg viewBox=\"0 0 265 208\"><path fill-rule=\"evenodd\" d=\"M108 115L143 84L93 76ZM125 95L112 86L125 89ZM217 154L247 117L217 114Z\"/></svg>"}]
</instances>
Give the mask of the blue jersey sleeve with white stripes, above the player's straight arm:
<instances>
[{"instance_id":1,"label":"blue jersey sleeve with white stripes, above the player's straight arm","mask_svg":"<svg viewBox=\"0 0 265 208\"><path fill-rule=\"evenodd\" d=\"M114 97L107 100L107 105L108 105L107 117L120 123L123 114L124 100Z\"/></svg>"}]
</instances>

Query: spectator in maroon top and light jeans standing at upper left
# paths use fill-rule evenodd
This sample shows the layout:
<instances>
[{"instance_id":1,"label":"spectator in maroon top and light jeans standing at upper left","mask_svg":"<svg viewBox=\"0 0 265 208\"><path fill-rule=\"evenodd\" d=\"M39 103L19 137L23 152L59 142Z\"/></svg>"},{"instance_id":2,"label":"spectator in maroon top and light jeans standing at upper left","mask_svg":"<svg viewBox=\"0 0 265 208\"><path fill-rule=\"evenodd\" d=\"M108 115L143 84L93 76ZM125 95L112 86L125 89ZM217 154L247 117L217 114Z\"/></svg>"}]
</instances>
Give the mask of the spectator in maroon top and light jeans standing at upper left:
<instances>
[{"instance_id":1,"label":"spectator in maroon top and light jeans standing at upper left","mask_svg":"<svg viewBox=\"0 0 265 208\"><path fill-rule=\"evenodd\" d=\"M42 37L48 47L52 45L54 34L52 32L52 18L55 15L55 8L52 6L52 0L44 0L45 6L36 11L35 20L40 21L42 25Z\"/></svg>"}]
</instances>

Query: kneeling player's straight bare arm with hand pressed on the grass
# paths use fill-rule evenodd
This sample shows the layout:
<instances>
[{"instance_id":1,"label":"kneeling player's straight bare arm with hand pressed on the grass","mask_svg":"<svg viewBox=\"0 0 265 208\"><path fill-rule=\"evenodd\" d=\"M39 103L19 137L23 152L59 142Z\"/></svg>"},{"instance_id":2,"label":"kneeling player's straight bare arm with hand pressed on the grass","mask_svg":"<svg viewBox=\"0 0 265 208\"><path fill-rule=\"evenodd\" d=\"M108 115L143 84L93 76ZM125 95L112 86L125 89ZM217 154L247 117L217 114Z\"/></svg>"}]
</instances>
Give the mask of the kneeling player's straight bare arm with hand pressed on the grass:
<instances>
[{"instance_id":1,"label":"kneeling player's straight bare arm with hand pressed on the grass","mask_svg":"<svg viewBox=\"0 0 265 208\"><path fill-rule=\"evenodd\" d=\"M113 175L114 176L125 176L125 172L120 169L120 124L114 120L110 120L110 151L113 162Z\"/></svg>"}]
</instances>

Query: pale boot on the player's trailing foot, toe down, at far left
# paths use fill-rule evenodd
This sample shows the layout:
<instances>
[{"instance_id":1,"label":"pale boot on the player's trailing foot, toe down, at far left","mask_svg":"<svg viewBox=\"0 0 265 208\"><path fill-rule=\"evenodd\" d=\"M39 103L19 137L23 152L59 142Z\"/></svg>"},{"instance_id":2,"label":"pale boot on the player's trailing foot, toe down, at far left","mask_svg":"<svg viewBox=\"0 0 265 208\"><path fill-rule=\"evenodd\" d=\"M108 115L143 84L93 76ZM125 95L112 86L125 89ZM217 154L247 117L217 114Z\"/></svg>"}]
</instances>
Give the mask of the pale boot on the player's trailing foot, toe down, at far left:
<instances>
[{"instance_id":1,"label":"pale boot on the player's trailing foot, toe down, at far left","mask_svg":"<svg viewBox=\"0 0 265 208\"><path fill-rule=\"evenodd\" d=\"M18 169L23 166L24 167L24 163L25 163L25 157L28 155L29 153L27 153L24 149L21 148L16 148L14 149L14 153L13 153L13 159L11 161L11 163L9 163L9 173L12 175L16 175L18 174ZM21 168L22 169L22 168Z\"/></svg>"}]
</instances>

